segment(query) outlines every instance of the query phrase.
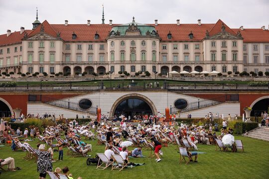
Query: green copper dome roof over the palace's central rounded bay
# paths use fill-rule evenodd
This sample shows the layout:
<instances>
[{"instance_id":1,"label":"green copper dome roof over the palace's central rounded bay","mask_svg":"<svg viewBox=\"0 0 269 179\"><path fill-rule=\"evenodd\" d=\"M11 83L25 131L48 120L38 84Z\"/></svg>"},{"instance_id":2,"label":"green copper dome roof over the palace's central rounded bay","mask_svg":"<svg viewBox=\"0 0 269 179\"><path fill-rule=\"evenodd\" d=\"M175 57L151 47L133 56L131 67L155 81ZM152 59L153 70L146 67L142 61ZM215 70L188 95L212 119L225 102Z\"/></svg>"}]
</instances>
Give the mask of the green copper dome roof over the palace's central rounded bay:
<instances>
[{"instance_id":1,"label":"green copper dome roof over the palace's central rounded bay","mask_svg":"<svg viewBox=\"0 0 269 179\"><path fill-rule=\"evenodd\" d=\"M154 26L133 21L112 27L109 36L157 36Z\"/></svg>"}]
</instances>

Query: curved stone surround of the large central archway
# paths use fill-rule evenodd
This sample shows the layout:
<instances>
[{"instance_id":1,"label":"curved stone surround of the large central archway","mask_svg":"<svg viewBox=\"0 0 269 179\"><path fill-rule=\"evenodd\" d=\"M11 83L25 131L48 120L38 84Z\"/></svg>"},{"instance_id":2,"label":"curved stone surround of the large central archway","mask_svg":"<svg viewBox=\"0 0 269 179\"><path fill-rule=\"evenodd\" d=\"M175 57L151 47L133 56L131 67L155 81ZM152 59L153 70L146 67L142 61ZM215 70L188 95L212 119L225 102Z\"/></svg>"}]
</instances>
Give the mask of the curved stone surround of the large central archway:
<instances>
[{"instance_id":1,"label":"curved stone surround of the large central archway","mask_svg":"<svg viewBox=\"0 0 269 179\"><path fill-rule=\"evenodd\" d=\"M110 110L110 114L109 114L110 117L113 117L113 116L114 116L115 109L117 108L117 106L118 106L122 101L124 101L124 100L126 100L126 99L130 99L130 98L137 98L137 99L141 99L141 100L145 101L145 102L149 105L149 107L150 107L152 113L153 113L153 114L157 114L158 111L157 111L155 105L153 104L153 102L152 102L148 97L146 97L146 96L144 96L144 95L141 95L141 94L133 93L133 94L126 94L126 95L123 95L122 97L118 98L118 99L114 102L114 104L112 105L112 108L111 108L111 110Z\"/></svg>"}]
</instances>

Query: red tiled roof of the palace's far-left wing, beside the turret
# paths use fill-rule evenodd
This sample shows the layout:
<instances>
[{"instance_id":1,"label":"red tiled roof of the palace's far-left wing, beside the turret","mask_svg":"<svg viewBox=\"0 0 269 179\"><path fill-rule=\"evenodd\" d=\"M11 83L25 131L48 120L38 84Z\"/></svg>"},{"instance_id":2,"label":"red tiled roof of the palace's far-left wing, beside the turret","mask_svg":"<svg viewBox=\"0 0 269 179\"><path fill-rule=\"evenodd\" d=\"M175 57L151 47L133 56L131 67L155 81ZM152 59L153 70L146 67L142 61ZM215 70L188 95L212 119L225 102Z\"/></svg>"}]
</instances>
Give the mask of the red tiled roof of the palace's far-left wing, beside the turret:
<instances>
[{"instance_id":1,"label":"red tiled roof of the palace's far-left wing, beside the turret","mask_svg":"<svg viewBox=\"0 0 269 179\"><path fill-rule=\"evenodd\" d=\"M25 30L22 34L20 34L20 31L12 32L8 37L6 34L0 35L0 46L21 42L21 39L26 32L29 34L32 32L32 30Z\"/></svg>"}]
</instances>

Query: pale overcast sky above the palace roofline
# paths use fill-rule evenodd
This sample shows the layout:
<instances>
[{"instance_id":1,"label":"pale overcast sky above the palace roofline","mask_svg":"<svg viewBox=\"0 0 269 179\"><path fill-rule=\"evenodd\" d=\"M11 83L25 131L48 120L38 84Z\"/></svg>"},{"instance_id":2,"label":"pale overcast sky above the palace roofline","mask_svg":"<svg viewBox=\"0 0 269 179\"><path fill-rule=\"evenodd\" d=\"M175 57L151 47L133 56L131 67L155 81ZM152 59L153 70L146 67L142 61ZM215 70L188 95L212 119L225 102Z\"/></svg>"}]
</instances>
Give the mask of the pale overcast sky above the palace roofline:
<instances>
[{"instance_id":1,"label":"pale overcast sky above the palace roofline","mask_svg":"<svg viewBox=\"0 0 269 179\"><path fill-rule=\"evenodd\" d=\"M0 0L0 34L7 29L32 28L38 7L38 20L51 24L101 23L215 23L222 19L229 27L261 28L269 25L269 0Z\"/></svg>"}]
</instances>

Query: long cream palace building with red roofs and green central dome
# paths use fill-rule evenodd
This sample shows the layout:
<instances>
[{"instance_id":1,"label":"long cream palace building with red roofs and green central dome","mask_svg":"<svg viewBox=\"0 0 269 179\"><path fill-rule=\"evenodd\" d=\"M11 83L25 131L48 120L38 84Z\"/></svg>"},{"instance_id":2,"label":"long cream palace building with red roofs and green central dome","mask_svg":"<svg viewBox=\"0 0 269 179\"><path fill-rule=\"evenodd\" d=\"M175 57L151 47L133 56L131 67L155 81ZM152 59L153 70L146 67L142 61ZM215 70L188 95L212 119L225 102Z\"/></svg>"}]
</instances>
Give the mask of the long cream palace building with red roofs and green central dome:
<instances>
[{"instance_id":1,"label":"long cream palace building with red roofs and green central dome","mask_svg":"<svg viewBox=\"0 0 269 179\"><path fill-rule=\"evenodd\" d=\"M203 24L50 24L0 35L0 72L99 76L126 71L269 71L269 30L230 28L222 20Z\"/></svg>"}]
</instances>

